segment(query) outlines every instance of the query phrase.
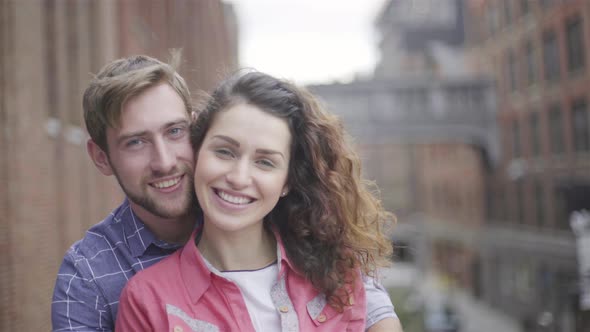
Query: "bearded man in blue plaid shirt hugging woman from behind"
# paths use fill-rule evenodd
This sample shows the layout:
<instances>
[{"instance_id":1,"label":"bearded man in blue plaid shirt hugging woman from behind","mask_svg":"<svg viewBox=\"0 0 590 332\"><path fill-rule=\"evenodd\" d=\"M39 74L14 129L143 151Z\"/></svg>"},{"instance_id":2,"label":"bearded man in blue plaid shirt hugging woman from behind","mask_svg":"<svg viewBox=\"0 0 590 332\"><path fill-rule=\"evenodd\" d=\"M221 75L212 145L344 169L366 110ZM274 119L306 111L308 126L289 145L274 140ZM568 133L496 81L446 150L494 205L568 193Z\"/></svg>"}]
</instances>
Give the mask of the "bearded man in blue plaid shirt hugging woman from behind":
<instances>
[{"instance_id":1,"label":"bearded man in blue plaid shirt hugging woman from behind","mask_svg":"<svg viewBox=\"0 0 590 332\"><path fill-rule=\"evenodd\" d=\"M84 93L90 158L127 196L66 253L52 302L54 331L111 331L138 271L188 240L197 221L186 83L147 56L106 65ZM369 331L401 331L387 293L366 283Z\"/></svg>"}]
</instances>

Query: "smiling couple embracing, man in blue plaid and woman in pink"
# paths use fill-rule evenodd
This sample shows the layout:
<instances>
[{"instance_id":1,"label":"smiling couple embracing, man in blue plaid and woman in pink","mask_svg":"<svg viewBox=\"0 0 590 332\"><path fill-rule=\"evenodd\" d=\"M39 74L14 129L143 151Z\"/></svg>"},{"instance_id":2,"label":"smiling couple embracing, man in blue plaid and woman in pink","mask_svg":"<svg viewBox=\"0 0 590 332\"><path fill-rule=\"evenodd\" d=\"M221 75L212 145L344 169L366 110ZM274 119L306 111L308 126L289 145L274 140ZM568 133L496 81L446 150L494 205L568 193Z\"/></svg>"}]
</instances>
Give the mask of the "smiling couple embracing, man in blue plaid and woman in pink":
<instances>
[{"instance_id":1,"label":"smiling couple embracing, man in blue plaid and woman in pink","mask_svg":"<svg viewBox=\"0 0 590 332\"><path fill-rule=\"evenodd\" d=\"M64 257L53 329L401 331L366 277L391 219L336 118L256 72L193 114L182 77L146 56L86 90L88 153L127 199Z\"/></svg>"}]
</instances>

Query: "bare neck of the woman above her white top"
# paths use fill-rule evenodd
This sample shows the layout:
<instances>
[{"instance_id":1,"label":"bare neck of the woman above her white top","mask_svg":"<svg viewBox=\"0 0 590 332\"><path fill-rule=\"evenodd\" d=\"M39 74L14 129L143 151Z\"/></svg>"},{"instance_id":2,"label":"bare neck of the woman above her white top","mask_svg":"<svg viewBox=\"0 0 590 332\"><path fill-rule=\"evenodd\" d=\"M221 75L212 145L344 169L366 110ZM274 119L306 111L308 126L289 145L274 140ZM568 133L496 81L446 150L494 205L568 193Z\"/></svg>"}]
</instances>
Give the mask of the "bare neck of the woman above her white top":
<instances>
[{"instance_id":1,"label":"bare neck of the woman above her white top","mask_svg":"<svg viewBox=\"0 0 590 332\"><path fill-rule=\"evenodd\" d=\"M205 224L197 247L219 271L260 269L277 258L276 239L262 225L226 232Z\"/></svg>"}]
</instances>

